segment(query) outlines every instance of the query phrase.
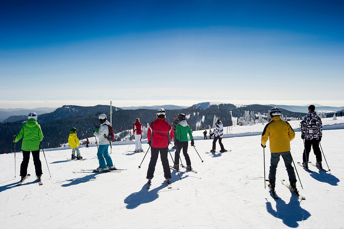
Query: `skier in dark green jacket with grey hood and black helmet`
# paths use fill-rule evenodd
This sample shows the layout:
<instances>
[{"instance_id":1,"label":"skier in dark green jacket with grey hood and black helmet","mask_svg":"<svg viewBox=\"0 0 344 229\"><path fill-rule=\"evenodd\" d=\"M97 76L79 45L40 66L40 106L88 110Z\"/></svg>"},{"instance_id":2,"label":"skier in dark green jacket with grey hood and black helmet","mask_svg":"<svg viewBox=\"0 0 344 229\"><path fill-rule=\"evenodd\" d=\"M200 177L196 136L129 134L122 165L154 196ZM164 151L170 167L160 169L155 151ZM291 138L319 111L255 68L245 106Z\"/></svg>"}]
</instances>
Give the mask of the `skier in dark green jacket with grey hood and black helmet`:
<instances>
[{"instance_id":1,"label":"skier in dark green jacket with grey hood and black helmet","mask_svg":"<svg viewBox=\"0 0 344 229\"><path fill-rule=\"evenodd\" d=\"M190 126L187 125L187 122L185 120L185 114L179 114L178 115L179 123L176 128L176 139L175 143L177 145L177 150L174 154L174 168L179 169L179 154L180 150L183 148L183 154L186 160L186 169L191 170L191 161L189 154L187 154L187 146L189 145L189 138L187 138L187 134L189 133L190 139L191 139L191 146L194 145L194 140L192 136L192 132L190 129Z\"/></svg>"}]
</instances>

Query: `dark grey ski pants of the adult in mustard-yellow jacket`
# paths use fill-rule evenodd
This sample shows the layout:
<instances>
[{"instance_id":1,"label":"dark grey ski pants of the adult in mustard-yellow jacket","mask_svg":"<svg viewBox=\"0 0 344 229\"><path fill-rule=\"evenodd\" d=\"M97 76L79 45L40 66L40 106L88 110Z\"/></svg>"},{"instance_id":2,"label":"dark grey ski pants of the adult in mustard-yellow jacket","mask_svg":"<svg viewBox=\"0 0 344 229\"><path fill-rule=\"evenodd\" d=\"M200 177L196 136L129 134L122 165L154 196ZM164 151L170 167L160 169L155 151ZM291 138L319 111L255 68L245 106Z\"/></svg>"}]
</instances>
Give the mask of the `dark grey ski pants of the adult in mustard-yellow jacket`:
<instances>
[{"instance_id":1,"label":"dark grey ski pants of the adult in mustard-yellow jacket","mask_svg":"<svg viewBox=\"0 0 344 229\"><path fill-rule=\"evenodd\" d=\"M286 166L286 170L289 176L289 181L296 182L297 179L295 176L294 168L291 165L293 159L291 157L290 151L282 152L282 153L271 153L269 180L276 181L276 169L277 169L280 156L282 156L284 160L284 165Z\"/></svg>"}]
</instances>

